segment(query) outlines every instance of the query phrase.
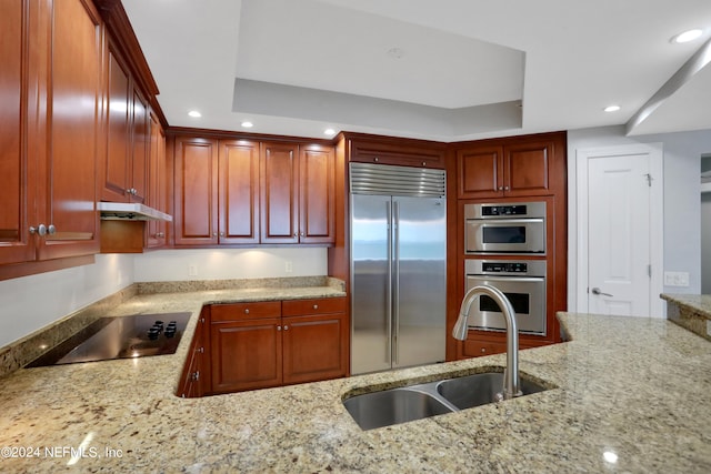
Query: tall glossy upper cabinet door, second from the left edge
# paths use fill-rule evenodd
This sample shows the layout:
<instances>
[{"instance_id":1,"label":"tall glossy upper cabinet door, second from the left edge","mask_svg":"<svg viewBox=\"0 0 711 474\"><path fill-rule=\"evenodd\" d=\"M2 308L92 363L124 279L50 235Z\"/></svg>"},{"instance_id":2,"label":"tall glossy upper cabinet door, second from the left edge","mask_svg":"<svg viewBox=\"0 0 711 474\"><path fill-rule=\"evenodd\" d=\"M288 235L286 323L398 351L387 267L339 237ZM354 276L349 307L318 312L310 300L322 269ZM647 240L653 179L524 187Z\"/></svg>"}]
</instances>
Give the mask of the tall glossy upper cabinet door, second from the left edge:
<instances>
[{"instance_id":1,"label":"tall glossy upper cabinet door, second from the left edge","mask_svg":"<svg viewBox=\"0 0 711 474\"><path fill-rule=\"evenodd\" d=\"M40 259L99 251L96 202L103 29L91 2L54 2L52 14L49 149L40 206L49 233L41 241Z\"/></svg>"}]
</instances>

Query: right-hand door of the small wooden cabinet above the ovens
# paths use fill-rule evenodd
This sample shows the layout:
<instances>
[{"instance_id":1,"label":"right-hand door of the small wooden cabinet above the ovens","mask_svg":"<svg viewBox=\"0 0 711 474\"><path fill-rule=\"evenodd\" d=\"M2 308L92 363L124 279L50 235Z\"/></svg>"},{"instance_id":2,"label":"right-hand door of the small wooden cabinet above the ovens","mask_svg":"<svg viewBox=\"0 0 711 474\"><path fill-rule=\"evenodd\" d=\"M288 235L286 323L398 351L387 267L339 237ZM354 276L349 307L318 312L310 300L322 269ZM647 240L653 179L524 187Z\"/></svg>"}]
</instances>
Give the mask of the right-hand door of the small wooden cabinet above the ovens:
<instances>
[{"instance_id":1,"label":"right-hand door of the small wooden cabinet above the ovens","mask_svg":"<svg viewBox=\"0 0 711 474\"><path fill-rule=\"evenodd\" d=\"M550 194L549 169L553 144L538 141L507 145L504 191L507 195Z\"/></svg>"}]
</instances>

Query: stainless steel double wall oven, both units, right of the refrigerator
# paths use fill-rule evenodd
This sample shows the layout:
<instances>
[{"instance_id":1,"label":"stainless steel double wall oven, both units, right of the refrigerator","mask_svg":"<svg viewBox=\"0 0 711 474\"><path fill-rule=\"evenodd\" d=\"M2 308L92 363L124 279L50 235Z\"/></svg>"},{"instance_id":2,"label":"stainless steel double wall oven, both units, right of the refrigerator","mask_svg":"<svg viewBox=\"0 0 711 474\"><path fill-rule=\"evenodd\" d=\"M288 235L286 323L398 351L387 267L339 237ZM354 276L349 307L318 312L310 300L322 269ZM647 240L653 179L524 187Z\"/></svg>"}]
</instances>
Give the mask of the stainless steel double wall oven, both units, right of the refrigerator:
<instances>
[{"instance_id":1,"label":"stainless steel double wall oven, both units, right of the refrigerator","mask_svg":"<svg viewBox=\"0 0 711 474\"><path fill-rule=\"evenodd\" d=\"M547 335L545 324L545 210L544 201L475 203L464 205L465 291L488 284L511 301L519 332ZM505 256L505 258L503 258ZM510 258L514 256L514 258ZM503 314L488 296L470 312L470 326L484 331L505 329Z\"/></svg>"}]
</instances>

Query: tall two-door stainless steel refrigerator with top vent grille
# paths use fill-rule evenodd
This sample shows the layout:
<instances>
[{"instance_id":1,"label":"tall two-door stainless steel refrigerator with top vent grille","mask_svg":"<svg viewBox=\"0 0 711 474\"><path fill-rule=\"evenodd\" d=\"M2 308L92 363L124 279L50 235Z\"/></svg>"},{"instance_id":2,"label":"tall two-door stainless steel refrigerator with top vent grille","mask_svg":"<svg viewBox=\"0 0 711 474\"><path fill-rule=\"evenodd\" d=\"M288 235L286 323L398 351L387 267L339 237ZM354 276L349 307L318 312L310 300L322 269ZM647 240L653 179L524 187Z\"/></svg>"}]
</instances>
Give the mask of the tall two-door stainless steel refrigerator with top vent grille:
<instances>
[{"instance_id":1,"label":"tall two-door stainless steel refrigerator with top vent grille","mask_svg":"<svg viewBox=\"0 0 711 474\"><path fill-rule=\"evenodd\" d=\"M351 373L444 360L443 170L351 163Z\"/></svg>"}]
</instances>

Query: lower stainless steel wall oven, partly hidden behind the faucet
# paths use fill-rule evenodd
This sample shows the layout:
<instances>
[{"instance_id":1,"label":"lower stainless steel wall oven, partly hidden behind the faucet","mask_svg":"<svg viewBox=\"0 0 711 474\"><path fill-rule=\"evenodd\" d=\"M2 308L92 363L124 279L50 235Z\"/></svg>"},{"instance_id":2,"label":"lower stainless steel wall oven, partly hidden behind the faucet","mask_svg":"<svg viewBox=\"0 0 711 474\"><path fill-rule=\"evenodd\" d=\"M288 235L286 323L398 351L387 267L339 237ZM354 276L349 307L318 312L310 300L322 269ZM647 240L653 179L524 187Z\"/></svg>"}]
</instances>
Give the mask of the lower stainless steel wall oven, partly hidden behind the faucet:
<instances>
[{"instance_id":1,"label":"lower stainless steel wall oven, partly hidden behind the faucet","mask_svg":"<svg viewBox=\"0 0 711 474\"><path fill-rule=\"evenodd\" d=\"M545 261L544 260L467 260L467 289L487 284L503 292L511 301L520 333L545 335ZM469 325L484 331L504 331L499 305L489 296L480 296L469 313Z\"/></svg>"}]
</instances>

